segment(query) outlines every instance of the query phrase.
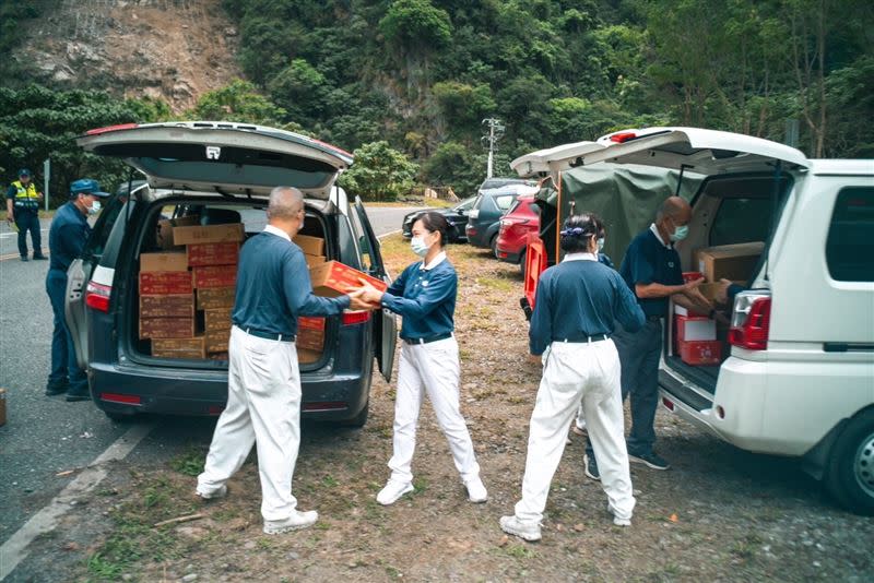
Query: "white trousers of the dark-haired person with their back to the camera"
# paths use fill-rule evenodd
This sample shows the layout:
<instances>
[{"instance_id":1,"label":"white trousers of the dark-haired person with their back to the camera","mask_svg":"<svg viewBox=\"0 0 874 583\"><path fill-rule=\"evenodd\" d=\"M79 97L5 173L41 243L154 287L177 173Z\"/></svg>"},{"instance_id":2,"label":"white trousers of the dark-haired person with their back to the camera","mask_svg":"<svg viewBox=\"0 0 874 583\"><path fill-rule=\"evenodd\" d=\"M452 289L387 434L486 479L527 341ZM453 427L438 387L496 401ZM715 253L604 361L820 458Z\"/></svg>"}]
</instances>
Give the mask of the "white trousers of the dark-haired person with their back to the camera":
<instances>
[{"instance_id":1,"label":"white trousers of the dark-haired person with their back to the camera","mask_svg":"<svg viewBox=\"0 0 874 583\"><path fill-rule=\"evenodd\" d=\"M619 388L619 356L613 341L554 342L543 368L522 479L522 499L516 504L521 521L540 522L546 508L558 462L565 451L567 427L582 402L609 509L630 519L635 508Z\"/></svg>"}]
</instances>

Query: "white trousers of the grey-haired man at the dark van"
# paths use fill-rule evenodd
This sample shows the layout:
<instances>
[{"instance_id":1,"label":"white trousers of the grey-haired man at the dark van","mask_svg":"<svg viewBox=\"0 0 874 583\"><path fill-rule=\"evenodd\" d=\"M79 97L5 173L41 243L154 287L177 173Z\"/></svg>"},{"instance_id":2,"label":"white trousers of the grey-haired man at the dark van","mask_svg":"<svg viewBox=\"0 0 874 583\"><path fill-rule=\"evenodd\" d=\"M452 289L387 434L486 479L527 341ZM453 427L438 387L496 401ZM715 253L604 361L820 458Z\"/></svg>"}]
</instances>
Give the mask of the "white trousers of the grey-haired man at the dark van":
<instances>
[{"instance_id":1,"label":"white trousers of the grey-haired man at the dark van","mask_svg":"<svg viewBox=\"0 0 874 583\"><path fill-rule=\"evenodd\" d=\"M292 475L300 445L300 371L294 343L234 326L228 345L227 406L218 417L198 491L221 488L258 444L261 514L288 517L297 507Z\"/></svg>"}]
</instances>

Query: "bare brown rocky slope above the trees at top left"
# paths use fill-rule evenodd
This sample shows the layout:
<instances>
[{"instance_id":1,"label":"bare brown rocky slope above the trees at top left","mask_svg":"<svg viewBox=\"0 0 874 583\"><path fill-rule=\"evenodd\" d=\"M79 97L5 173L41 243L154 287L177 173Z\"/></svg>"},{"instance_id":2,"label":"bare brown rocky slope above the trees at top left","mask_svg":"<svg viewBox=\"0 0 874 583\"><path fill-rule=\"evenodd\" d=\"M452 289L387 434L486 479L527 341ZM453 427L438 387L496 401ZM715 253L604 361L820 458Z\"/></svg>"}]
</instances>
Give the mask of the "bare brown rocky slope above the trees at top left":
<instances>
[{"instance_id":1,"label":"bare brown rocky slope above the trees at top left","mask_svg":"<svg viewBox=\"0 0 874 583\"><path fill-rule=\"evenodd\" d=\"M11 57L37 82L161 97L180 111L240 76L221 0L61 0L23 25L29 41Z\"/></svg>"}]
</instances>

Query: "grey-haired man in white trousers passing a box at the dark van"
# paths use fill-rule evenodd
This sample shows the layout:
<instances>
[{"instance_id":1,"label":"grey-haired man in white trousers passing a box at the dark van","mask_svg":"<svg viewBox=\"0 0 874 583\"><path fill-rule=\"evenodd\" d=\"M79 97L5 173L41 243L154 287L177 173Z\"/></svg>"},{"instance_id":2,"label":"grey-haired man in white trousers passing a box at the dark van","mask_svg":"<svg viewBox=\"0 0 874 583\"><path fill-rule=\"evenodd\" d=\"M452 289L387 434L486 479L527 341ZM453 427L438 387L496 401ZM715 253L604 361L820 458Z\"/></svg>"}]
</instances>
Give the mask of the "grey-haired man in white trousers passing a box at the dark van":
<instances>
[{"instance_id":1,"label":"grey-haired man in white trousers passing a box at the dark van","mask_svg":"<svg viewBox=\"0 0 874 583\"><path fill-rule=\"evenodd\" d=\"M300 372L295 350L298 316L369 309L362 290L339 298L312 295L304 253L292 238L304 224L296 188L270 193L268 225L243 246L231 319L227 407L218 418L197 495L222 498L226 483L258 445L264 533L305 528L315 510L297 510L292 477L300 444Z\"/></svg>"}]
</instances>

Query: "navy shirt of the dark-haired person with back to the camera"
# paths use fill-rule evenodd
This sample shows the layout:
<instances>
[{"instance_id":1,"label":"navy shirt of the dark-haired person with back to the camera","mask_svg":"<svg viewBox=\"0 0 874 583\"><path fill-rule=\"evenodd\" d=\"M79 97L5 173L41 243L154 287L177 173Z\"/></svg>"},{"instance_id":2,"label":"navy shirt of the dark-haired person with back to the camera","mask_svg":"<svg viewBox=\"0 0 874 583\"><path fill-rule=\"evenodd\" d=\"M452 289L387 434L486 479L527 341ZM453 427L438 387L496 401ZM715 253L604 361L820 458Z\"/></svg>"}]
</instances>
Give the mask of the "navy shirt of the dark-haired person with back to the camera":
<instances>
[{"instance_id":1,"label":"navy shirt of the dark-haired person with back to the camera","mask_svg":"<svg viewBox=\"0 0 874 583\"><path fill-rule=\"evenodd\" d=\"M645 322L619 274L594 260L566 259L544 271L535 297L529 330L533 355L543 354L553 341L611 335L615 320L629 332L640 330Z\"/></svg>"}]
</instances>

